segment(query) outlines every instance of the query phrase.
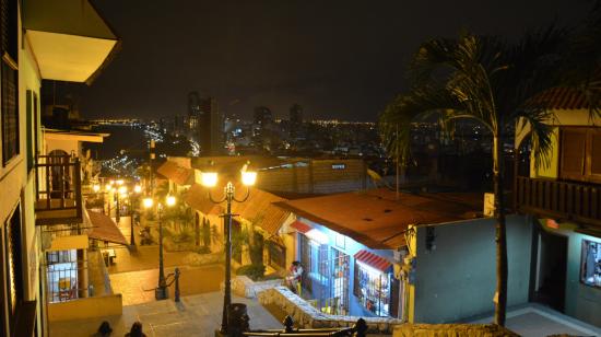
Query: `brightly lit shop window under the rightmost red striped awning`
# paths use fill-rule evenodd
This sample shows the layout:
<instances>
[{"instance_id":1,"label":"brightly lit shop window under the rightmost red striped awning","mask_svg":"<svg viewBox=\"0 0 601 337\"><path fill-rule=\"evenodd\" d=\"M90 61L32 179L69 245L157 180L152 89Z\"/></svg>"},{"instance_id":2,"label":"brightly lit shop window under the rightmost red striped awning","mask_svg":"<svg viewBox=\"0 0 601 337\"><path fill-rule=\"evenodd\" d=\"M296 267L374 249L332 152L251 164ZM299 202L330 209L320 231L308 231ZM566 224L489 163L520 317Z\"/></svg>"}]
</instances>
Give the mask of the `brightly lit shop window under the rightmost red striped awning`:
<instances>
[{"instance_id":1,"label":"brightly lit shop window under the rightmost red striped awning","mask_svg":"<svg viewBox=\"0 0 601 337\"><path fill-rule=\"evenodd\" d=\"M355 262L354 293L377 316L389 316L390 275Z\"/></svg>"}]
</instances>

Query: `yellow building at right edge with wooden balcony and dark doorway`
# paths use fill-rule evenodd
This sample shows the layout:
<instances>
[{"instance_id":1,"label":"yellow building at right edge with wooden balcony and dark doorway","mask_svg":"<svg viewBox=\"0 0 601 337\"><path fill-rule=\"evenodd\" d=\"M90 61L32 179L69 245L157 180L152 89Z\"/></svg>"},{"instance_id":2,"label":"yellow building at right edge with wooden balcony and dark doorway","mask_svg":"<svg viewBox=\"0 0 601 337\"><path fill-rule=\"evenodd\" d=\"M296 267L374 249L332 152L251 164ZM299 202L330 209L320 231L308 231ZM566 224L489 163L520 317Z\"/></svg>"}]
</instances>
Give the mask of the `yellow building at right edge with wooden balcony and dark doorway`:
<instances>
[{"instance_id":1,"label":"yellow building at right edge with wooden balcony and dark doorway","mask_svg":"<svg viewBox=\"0 0 601 337\"><path fill-rule=\"evenodd\" d=\"M518 125L515 209L534 217L532 301L601 326L601 118L584 95L555 89L541 97L553 146L549 165L535 167Z\"/></svg>"}]
</instances>

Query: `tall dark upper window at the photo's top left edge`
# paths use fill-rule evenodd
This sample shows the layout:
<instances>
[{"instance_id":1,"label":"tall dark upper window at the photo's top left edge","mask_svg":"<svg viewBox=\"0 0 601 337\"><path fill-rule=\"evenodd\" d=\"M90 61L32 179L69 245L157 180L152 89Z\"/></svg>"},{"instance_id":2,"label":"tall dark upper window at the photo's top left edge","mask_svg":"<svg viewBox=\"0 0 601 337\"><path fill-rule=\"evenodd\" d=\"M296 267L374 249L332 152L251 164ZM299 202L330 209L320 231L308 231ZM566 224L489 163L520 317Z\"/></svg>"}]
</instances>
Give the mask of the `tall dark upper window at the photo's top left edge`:
<instances>
[{"instance_id":1,"label":"tall dark upper window at the photo's top left edge","mask_svg":"<svg viewBox=\"0 0 601 337\"><path fill-rule=\"evenodd\" d=\"M16 1L0 0L2 164L19 154Z\"/></svg>"}]
</instances>

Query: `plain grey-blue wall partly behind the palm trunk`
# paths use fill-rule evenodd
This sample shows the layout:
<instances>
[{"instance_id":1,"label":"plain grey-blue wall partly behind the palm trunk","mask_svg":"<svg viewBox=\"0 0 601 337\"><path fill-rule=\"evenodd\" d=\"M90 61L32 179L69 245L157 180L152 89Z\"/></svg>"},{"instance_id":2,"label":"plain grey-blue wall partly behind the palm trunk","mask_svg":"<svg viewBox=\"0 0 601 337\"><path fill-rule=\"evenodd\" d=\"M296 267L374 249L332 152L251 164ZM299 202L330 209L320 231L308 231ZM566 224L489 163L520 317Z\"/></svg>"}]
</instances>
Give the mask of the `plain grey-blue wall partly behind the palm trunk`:
<instances>
[{"instance_id":1,"label":"plain grey-blue wall partly behind the palm trunk","mask_svg":"<svg viewBox=\"0 0 601 337\"><path fill-rule=\"evenodd\" d=\"M415 323L448 323L491 313L496 284L495 221L479 219L435 225L435 249L417 228ZM507 218L508 304L528 302L532 224Z\"/></svg>"}]
</instances>

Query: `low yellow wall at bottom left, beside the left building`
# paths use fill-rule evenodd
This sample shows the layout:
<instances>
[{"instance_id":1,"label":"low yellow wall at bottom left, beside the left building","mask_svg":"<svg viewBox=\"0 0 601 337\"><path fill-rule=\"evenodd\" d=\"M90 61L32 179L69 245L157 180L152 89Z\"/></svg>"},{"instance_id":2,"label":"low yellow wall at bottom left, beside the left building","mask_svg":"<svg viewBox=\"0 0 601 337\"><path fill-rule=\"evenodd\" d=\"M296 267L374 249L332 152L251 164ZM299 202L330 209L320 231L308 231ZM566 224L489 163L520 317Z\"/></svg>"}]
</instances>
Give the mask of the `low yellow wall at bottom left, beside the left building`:
<instances>
[{"instance_id":1,"label":"low yellow wall at bottom left, beside the left building","mask_svg":"<svg viewBox=\"0 0 601 337\"><path fill-rule=\"evenodd\" d=\"M73 301L49 303L48 321L71 321L91 317L121 315L123 312L121 294L78 299Z\"/></svg>"}]
</instances>

